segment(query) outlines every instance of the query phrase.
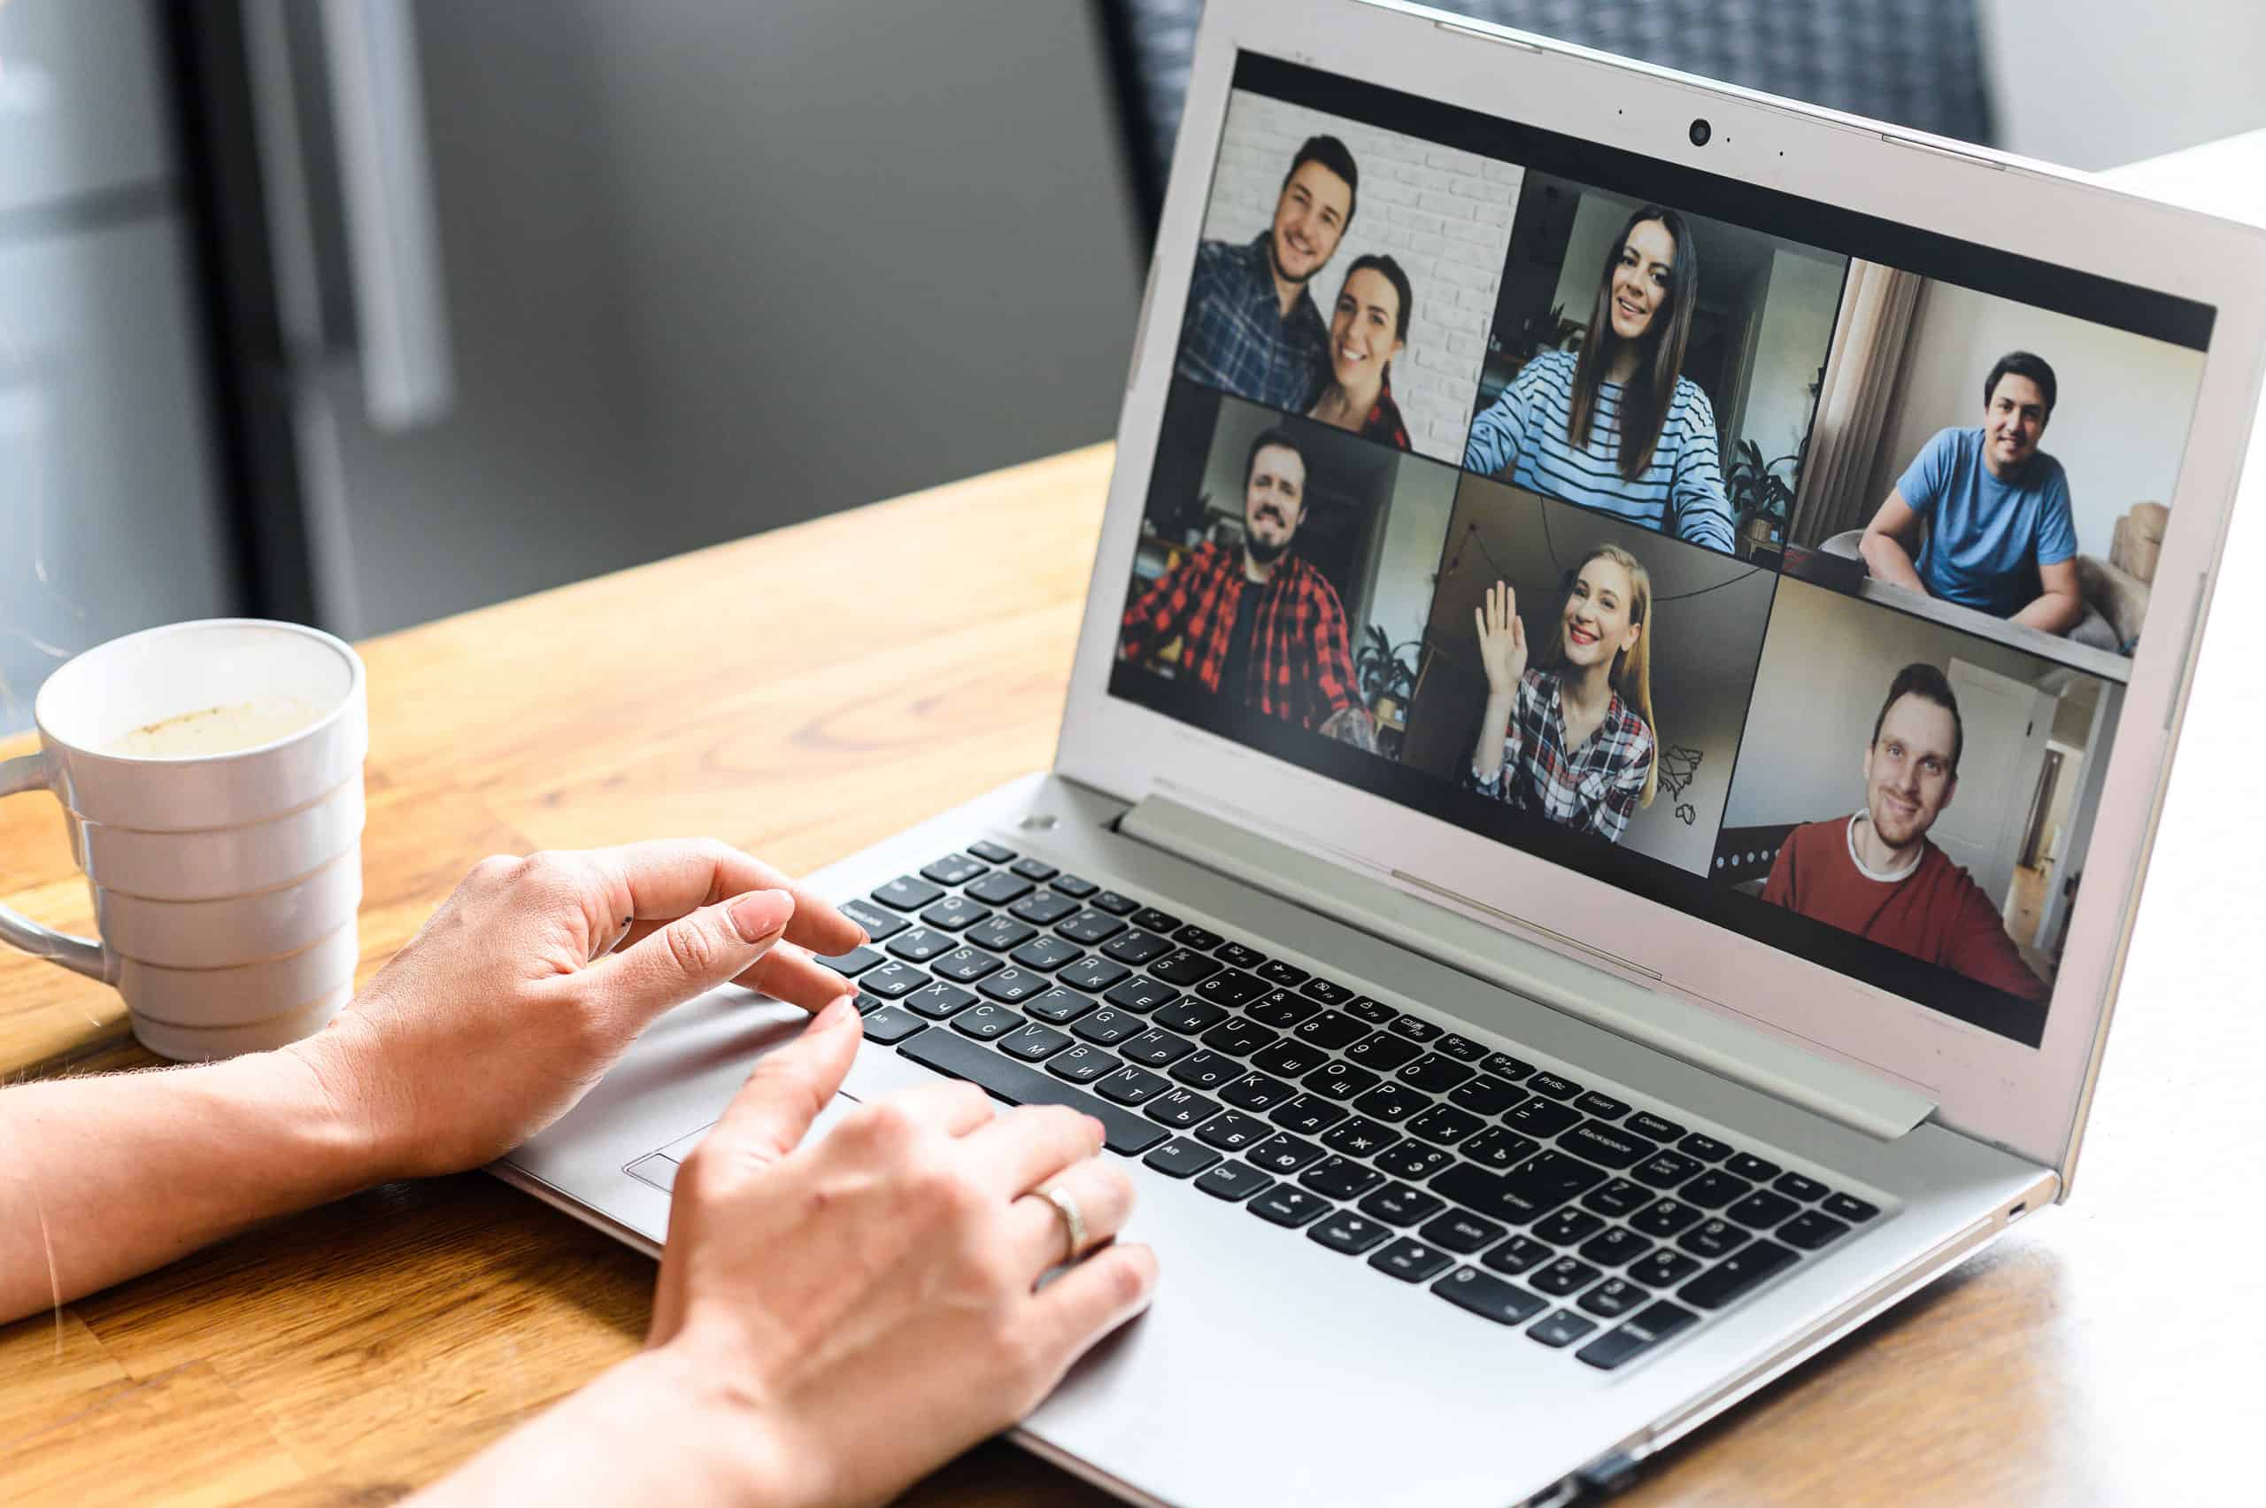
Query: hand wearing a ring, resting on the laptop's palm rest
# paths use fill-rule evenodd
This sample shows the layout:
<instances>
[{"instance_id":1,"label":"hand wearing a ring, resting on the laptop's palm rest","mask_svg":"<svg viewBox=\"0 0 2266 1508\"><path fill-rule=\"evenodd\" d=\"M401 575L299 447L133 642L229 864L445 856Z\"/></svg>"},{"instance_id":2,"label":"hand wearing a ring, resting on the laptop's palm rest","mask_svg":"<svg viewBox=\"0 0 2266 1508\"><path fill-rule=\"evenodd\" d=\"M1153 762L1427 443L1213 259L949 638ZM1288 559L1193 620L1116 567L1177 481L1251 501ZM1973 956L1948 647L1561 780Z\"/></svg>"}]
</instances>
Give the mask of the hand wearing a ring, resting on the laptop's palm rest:
<instances>
[{"instance_id":1,"label":"hand wearing a ring, resting on the laptop's palm rest","mask_svg":"<svg viewBox=\"0 0 2266 1508\"><path fill-rule=\"evenodd\" d=\"M1104 1245L1133 1186L1076 1111L936 1082L798 1145L857 1043L836 1005L766 1054L668 1211L648 1356L725 1399L773 1508L893 1497L1036 1408L1156 1284L1149 1247ZM1067 1254L1040 1186L1079 1204L1090 1254L1033 1293Z\"/></svg>"}]
</instances>

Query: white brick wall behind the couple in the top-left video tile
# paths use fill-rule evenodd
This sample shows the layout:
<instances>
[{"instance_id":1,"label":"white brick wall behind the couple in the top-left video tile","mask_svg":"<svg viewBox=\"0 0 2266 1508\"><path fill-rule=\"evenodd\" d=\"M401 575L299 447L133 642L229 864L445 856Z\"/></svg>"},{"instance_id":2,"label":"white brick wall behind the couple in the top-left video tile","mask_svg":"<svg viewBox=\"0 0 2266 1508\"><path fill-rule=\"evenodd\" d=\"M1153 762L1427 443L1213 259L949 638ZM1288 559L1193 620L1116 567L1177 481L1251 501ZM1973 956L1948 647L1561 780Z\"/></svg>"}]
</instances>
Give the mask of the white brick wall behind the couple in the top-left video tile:
<instances>
[{"instance_id":1,"label":"white brick wall behind the couple in the top-left video tile","mask_svg":"<svg viewBox=\"0 0 2266 1508\"><path fill-rule=\"evenodd\" d=\"M1251 240L1271 227L1289 159L1307 136L1321 134L1346 143L1362 186L1353 227L1337 256L1314 274L1314 306L1330 317L1355 256L1385 252L1400 263L1416 299L1407 349L1394 363L1394 399L1416 451L1462 463L1520 170L1303 104L1237 93L1228 102L1203 238Z\"/></svg>"}]
</instances>

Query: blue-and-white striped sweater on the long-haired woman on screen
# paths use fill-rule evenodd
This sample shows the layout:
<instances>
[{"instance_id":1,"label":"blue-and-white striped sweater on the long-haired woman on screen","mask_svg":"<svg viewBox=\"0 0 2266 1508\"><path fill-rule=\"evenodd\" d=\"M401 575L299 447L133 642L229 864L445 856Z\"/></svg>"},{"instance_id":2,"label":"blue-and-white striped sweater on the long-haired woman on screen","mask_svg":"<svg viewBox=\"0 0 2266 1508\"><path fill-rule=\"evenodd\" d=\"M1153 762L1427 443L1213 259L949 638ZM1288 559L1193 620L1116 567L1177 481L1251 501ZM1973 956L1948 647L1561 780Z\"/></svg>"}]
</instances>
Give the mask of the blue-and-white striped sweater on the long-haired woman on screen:
<instances>
[{"instance_id":1,"label":"blue-and-white striped sweater on the long-haired woman on screen","mask_svg":"<svg viewBox=\"0 0 2266 1508\"><path fill-rule=\"evenodd\" d=\"M1700 383L1677 379L1652 463L1620 474L1620 383L1600 383L1588 444L1568 444L1573 351L1543 351L1471 424L1464 469L1557 497L1709 549L1731 551L1731 499L1715 458L1715 410Z\"/></svg>"}]
</instances>

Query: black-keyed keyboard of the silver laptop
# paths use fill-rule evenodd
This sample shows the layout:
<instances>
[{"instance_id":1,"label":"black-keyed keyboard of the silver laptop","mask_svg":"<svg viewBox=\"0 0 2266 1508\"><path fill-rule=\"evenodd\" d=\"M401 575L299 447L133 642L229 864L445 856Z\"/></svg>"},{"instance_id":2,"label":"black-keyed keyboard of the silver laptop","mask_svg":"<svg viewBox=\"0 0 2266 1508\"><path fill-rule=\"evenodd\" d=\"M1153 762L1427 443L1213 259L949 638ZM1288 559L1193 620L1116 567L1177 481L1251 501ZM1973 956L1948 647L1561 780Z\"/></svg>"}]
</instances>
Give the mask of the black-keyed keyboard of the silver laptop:
<instances>
[{"instance_id":1,"label":"black-keyed keyboard of the silver laptop","mask_svg":"<svg viewBox=\"0 0 2266 1508\"><path fill-rule=\"evenodd\" d=\"M1600 1370L1881 1213L997 844L843 912L868 1041Z\"/></svg>"}]
</instances>

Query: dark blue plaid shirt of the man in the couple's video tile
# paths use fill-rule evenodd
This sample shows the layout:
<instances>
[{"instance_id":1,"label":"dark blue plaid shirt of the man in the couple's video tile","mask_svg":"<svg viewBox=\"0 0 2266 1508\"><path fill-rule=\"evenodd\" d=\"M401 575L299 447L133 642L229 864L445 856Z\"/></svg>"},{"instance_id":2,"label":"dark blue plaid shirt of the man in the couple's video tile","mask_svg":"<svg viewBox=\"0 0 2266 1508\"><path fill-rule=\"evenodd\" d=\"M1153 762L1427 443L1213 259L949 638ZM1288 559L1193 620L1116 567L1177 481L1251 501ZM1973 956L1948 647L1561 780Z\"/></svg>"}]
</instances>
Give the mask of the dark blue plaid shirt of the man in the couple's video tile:
<instances>
[{"instance_id":1,"label":"dark blue plaid shirt of the man in the couple's video tile","mask_svg":"<svg viewBox=\"0 0 2266 1508\"><path fill-rule=\"evenodd\" d=\"M1330 374L1330 327L1303 288L1283 313L1267 236L1249 245L1206 240L1196 247L1174 370L1253 404L1292 413L1314 406Z\"/></svg>"}]
</instances>

